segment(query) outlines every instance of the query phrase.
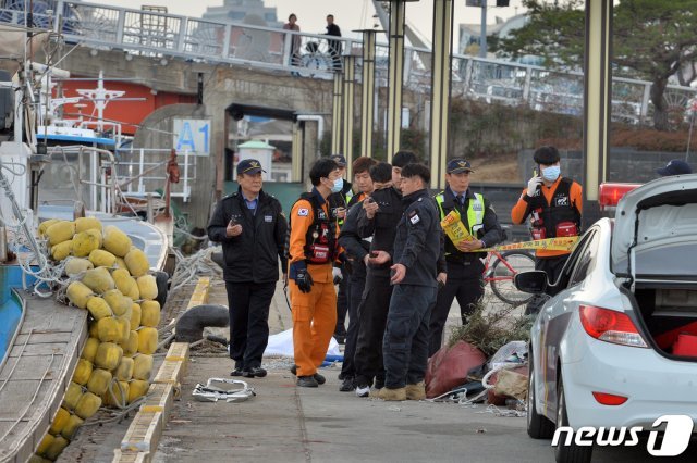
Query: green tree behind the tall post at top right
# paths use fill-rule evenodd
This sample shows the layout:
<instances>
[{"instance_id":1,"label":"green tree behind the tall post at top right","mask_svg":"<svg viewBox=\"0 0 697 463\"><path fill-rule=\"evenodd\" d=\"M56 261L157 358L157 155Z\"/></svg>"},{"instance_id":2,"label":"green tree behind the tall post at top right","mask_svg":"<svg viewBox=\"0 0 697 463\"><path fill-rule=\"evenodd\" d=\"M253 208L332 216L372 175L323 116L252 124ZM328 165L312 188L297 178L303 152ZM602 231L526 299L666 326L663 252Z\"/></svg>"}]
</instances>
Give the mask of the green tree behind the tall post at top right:
<instances>
[{"instance_id":1,"label":"green tree behind the tall post at top right","mask_svg":"<svg viewBox=\"0 0 697 463\"><path fill-rule=\"evenodd\" d=\"M543 57L549 66L583 67L584 0L524 0L529 21L498 41L504 54ZM653 127L669 128L669 78L697 55L697 0L622 0L614 7L613 73L651 82Z\"/></svg>"}]
</instances>

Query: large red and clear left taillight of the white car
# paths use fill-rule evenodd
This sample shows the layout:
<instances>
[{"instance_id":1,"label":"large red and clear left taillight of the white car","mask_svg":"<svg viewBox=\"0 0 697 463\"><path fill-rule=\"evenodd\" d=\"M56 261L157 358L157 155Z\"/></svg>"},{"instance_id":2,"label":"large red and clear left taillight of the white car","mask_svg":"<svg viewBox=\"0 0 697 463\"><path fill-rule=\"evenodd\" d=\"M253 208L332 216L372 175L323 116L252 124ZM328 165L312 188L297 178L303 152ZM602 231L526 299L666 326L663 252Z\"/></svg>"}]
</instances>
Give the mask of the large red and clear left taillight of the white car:
<instances>
[{"instance_id":1,"label":"large red and clear left taillight of the white car","mask_svg":"<svg viewBox=\"0 0 697 463\"><path fill-rule=\"evenodd\" d=\"M594 305L580 305L578 313L584 329L596 339L615 345L648 347L625 313Z\"/></svg>"}]
</instances>

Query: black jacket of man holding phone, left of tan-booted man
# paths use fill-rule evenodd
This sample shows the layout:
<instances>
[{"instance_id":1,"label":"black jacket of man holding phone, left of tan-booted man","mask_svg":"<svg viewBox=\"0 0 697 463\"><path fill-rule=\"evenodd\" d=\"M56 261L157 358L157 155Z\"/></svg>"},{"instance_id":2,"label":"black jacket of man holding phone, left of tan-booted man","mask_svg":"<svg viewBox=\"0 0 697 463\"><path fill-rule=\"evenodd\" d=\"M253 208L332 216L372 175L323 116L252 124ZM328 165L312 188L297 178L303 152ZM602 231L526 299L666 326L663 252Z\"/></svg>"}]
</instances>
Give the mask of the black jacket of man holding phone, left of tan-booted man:
<instances>
[{"instance_id":1,"label":"black jacket of man holding phone, left of tan-booted man","mask_svg":"<svg viewBox=\"0 0 697 463\"><path fill-rule=\"evenodd\" d=\"M358 211L357 232L362 238L372 237L370 251L384 251L390 255L394 255L394 236L396 235L396 224L402 217L402 195L394 188L381 188L372 191L370 197L378 204L378 212L372 218L368 218L363 207ZM369 264L370 268L383 268L387 273L391 263L375 265Z\"/></svg>"}]
</instances>

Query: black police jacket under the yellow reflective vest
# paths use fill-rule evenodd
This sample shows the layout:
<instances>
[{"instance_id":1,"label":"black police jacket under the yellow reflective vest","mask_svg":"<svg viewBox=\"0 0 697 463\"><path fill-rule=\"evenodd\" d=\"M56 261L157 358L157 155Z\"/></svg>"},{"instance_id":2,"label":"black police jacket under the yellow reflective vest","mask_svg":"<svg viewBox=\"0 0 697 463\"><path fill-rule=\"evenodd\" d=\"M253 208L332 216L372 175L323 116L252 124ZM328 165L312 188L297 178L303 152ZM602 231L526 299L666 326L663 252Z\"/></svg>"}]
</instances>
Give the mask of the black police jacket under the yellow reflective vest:
<instances>
[{"instance_id":1,"label":"black police jacket under the yellow reflective vest","mask_svg":"<svg viewBox=\"0 0 697 463\"><path fill-rule=\"evenodd\" d=\"M482 198L484 201L480 203L477 201L475 193L469 188L467 188L467 191L464 193L464 204L460 204L457 202L453 190L450 188L445 188L444 191L437 195L437 197L439 196L442 196L442 203L440 203L439 208L441 220L453 210L457 210L465 228L469 232L474 232L475 238L484 241L485 248L498 245L503 240L501 225L499 225L499 220L496 212L493 212L489 200ZM481 220L481 224L470 224L468 222L467 210L470 207L482 209L484 217ZM445 261L448 265L473 266L473 272L479 275L484 272L484 264L481 264L479 259L484 256L486 256L486 254L481 252L460 251L450 238L445 236Z\"/></svg>"}]
</instances>

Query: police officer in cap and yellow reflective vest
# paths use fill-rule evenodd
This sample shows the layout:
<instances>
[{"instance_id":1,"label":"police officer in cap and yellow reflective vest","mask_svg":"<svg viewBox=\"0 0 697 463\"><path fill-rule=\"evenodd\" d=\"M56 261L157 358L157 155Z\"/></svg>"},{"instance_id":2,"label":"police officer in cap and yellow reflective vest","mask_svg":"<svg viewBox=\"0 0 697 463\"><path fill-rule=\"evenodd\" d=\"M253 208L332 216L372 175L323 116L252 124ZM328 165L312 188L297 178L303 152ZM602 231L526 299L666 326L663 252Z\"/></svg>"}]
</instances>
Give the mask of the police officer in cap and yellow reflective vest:
<instances>
[{"instance_id":1,"label":"police officer in cap and yellow reflective vest","mask_svg":"<svg viewBox=\"0 0 697 463\"><path fill-rule=\"evenodd\" d=\"M455 246L443 234L448 278L442 281L444 286L438 291L436 306L431 313L429 356L440 349L443 327L453 300L457 298L464 325L472 315L475 303L484 296L482 259L486 258L486 253L475 251L503 240L501 226L491 203L481 193L475 193L469 189L469 174L473 172L472 165L464 159L451 160L445 170L448 186L435 197L440 220L452 211L457 211L463 225L474 239Z\"/></svg>"}]
</instances>

